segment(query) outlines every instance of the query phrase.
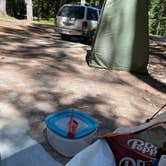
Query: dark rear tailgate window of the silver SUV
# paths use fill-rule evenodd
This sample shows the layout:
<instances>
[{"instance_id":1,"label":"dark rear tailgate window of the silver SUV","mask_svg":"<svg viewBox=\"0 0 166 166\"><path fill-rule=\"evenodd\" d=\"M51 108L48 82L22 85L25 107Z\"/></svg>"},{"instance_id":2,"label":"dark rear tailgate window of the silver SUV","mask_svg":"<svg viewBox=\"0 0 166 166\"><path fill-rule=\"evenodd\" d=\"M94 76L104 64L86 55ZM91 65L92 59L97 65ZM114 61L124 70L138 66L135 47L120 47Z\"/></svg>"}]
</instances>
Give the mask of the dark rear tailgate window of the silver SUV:
<instances>
[{"instance_id":1,"label":"dark rear tailgate window of the silver SUV","mask_svg":"<svg viewBox=\"0 0 166 166\"><path fill-rule=\"evenodd\" d=\"M82 6L64 6L58 16L83 19L85 8Z\"/></svg>"}]
</instances>

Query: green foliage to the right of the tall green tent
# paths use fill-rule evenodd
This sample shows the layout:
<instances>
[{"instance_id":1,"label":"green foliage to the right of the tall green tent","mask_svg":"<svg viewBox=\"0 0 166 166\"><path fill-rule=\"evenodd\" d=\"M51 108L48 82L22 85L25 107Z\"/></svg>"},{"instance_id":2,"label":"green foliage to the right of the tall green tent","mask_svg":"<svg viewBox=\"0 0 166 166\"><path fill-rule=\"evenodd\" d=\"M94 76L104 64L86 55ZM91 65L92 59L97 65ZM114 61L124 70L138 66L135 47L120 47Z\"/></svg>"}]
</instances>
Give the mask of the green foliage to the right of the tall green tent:
<instances>
[{"instance_id":1,"label":"green foliage to the right of the tall green tent","mask_svg":"<svg viewBox=\"0 0 166 166\"><path fill-rule=\"evenodd\" d=\"M152 0L149 5L149 32L166 36L166 0Z\"/></svg>"}]
</instances>

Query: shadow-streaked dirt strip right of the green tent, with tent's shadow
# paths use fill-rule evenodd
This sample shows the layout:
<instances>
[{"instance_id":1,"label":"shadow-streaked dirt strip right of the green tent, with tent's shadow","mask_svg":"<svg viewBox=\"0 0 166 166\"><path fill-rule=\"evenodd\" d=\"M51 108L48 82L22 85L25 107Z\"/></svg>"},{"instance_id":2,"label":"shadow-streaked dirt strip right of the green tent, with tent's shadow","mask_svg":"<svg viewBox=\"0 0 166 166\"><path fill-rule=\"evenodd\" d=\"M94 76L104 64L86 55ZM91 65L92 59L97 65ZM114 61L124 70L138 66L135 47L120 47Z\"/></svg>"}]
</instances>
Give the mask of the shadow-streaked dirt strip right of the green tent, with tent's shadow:
<instances>
[{"instance_id":1,"label":"shadow-streaked dirt strip right of the green tent, with tent's shadow","mask_svg":"<svg viewBox=\"0 0 166 166\"><path fill-rule=\"evenodd\" d=\"M150 39L153 39L150 38ZM162 93L166 93L166 84L156 79L156 76L161 76L165 79L166 76L166 45L164 42L150 40L149 46L149 74L135 75L137 78L149 84Z\"/></svg>"}]
</instances>

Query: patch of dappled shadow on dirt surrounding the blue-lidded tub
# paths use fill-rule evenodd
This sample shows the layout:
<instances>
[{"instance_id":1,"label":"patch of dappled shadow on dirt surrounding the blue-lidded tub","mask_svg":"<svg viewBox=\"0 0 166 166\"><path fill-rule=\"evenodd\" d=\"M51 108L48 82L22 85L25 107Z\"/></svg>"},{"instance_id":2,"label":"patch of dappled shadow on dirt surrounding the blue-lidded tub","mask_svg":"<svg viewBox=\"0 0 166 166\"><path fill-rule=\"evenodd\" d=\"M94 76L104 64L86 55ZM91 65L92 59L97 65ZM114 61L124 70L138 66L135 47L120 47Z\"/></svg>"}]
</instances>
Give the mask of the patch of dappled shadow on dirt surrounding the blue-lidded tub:
<instances>
[{"instance_id":1,"label":"patch of dappled shadow on dirt surrounding the blue-lidded tub","mask_svg":"<svg viewBox=\"0 0 166 166\"><path fill-rule=\"evenodd\" d=\"M8 92L8 95L10 93L12 93L12 91ZM116 117L110 116L110 118L107 118L103 116L101 111L98 109L99 105L107 104L106 101L102 100L100 97L85 96L73 101L71 104L63 104L61 100L64 96L66 96L66 94L63 92L53 93L49 91L39 91L36 94L31 94L32 100L27 102L26 95L24 93L17 93L12 101L10 101L10 105L20 112L24 119L28 120L28 125L31 129L28 131L28 134L33 139L41 143L50 155L61 163L66 163L69 158L65 158L58 154L48 145L47 141L43 137L43 129L46 127L44 125L44 119L49 113L46 108L37 108L36 105L38 103L41 104L49 102L49 105L52 107L50 113L65 108L74 108L93 116L99 122L98 135L113 131L118 126L116 124Z\"/></svg>"}]
</instances>

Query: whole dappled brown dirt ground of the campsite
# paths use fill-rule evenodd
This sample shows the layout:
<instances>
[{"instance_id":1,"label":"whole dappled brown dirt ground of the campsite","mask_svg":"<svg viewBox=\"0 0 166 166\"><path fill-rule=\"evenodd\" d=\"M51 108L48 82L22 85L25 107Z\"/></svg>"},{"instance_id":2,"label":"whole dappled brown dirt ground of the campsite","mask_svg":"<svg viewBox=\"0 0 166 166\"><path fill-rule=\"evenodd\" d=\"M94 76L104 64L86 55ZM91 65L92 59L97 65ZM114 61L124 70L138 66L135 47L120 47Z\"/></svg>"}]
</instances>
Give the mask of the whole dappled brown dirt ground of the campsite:
<instances>
[{"instance_id":1,"label":"whole dappled brown dirt ground of the campsite","mask_svg":"<svg viewBox=\"0 0 166 166\"><path fill-rule=\"evenodd\" d=\"M166 43L150 41L149 75L90 68L89 47L62 41L51 25L0 20L0 128L20 122L66 163L43 137L48 114L81 110L103 134L144 122L166 102Z\"/></svg>"}]
</instances>

